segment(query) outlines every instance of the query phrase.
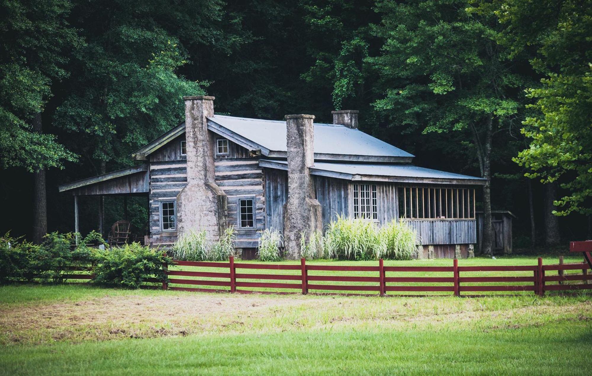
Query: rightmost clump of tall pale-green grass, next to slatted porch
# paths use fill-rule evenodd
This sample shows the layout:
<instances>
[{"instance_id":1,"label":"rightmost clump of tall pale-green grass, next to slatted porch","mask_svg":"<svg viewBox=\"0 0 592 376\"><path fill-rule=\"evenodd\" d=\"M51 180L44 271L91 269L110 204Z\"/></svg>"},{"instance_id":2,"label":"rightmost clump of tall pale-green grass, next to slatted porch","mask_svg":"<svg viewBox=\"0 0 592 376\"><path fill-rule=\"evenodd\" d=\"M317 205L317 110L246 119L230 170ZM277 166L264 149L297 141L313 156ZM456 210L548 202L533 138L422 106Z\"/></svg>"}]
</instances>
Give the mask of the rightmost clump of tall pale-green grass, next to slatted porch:
<instances>
[{"instance_id":1,"label":"rightmost clump of tall pale-green grass, next to slatted porch","mask_svg":"<svg viewBox=\"0 0 592 376\"><path fill-rule=\"evenodd\" d=\"M384 254L379 255L381 258L411 260L416 252L415 231L405 222L391 221L388 225L382 226L379 236L386 244Z\"/></svg>"}]
</instances>

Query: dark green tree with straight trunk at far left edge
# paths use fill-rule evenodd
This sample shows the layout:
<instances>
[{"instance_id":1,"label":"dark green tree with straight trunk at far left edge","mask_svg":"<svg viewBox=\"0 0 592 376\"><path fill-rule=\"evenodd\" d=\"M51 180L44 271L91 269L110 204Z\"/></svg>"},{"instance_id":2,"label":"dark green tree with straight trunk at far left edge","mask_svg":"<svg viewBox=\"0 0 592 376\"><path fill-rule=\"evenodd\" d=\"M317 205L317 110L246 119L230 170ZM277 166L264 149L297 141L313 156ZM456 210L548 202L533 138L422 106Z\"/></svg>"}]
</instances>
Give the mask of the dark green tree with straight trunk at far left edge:
<instances>
[{"instance_id":1,"label":"dark green tree with straight trunk at far left edge","mask_svg":"<svg viewBox=\"0 0 592 376\"><path fill-rule=\"evenodd\" d=\"M82 41L66 21L68 0L2 1L0 15L0 167L34 172L33 241L47 232L47 167L75 155L43 134L42 114L56 82L68 76L70 52Z\"/></svg>"}]
</instances>

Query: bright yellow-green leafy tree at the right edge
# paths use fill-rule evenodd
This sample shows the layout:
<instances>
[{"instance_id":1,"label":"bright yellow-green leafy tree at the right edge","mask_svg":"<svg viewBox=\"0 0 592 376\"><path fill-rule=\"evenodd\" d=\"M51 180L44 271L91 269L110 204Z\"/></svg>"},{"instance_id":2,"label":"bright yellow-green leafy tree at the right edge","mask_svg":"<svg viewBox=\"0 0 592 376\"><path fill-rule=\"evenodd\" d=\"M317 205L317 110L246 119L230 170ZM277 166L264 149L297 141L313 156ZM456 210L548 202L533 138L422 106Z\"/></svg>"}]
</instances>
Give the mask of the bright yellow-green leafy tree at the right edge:
<instances>
[{"instance_id":1,"label":"bright yellow-green leafy tree at the right edge","mask_svg":"<svg viewBox=\"0 0 592 376\"><path fill-rule=\"evenodd\" d=\"M515 158L526 176L561 182L568 194L556 215L592 215L592 1L494 1L506 29L501 43L513 56L528 51L545 75L527 97L536 113L523 124L532 141Z\"/></svg>"}]
</instances>

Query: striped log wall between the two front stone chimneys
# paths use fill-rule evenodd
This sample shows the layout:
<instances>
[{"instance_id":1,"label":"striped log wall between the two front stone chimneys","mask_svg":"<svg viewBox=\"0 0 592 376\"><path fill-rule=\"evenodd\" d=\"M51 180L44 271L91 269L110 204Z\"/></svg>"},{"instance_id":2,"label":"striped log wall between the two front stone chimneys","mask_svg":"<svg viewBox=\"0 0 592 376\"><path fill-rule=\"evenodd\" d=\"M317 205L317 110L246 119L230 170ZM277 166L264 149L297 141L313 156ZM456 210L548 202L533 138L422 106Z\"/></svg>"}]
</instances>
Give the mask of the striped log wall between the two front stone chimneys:
<instances>
[{"instance_id":1,"label":"striped log wall between the two front stone chimneys","mask_svg":"<svg viewBox=\"0 0 592 376\"><path fill-rule=\"evenodd\" d=\"M230 144L233 142L229 142ZM244 155L239 145L233 144L236 155ZM248 152L248 151L247 151ZM247 153L248 154L248 153ZM265 188L259 157L214 158L215 182L226 192L228 202L228 225L236 229L237 248L255 248L259 242L259 231L265 229ZM239 226L239 199L255 199L255 228L241 229Z\"/></svg>"}]
</instances>

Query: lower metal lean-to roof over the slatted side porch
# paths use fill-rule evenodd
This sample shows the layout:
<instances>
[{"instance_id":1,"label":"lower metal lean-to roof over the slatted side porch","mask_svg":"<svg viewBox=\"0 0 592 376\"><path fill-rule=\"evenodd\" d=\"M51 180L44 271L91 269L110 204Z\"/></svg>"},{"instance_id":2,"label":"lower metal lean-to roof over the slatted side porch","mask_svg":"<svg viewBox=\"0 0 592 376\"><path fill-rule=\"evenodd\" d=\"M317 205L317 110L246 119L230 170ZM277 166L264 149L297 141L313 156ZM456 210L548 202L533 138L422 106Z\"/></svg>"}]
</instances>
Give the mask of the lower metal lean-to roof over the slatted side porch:
<instances>
[{"instance_id":1,"label":"lower metal lean-to roof over the slatted side porch","mask_svg":"<svg viewBox=\"0 0 592 376\"><path fill-rule=\"evenodd\" d=\"M260 160L259 166L288 169L285 160ZM482 177L449 173L411 164L353 164L315 162L311 173L347 180L398 181L401 183L484 184Z\"/></svg>"}]
</instances>

